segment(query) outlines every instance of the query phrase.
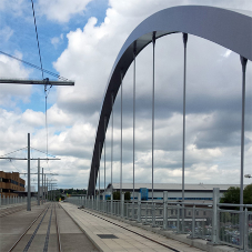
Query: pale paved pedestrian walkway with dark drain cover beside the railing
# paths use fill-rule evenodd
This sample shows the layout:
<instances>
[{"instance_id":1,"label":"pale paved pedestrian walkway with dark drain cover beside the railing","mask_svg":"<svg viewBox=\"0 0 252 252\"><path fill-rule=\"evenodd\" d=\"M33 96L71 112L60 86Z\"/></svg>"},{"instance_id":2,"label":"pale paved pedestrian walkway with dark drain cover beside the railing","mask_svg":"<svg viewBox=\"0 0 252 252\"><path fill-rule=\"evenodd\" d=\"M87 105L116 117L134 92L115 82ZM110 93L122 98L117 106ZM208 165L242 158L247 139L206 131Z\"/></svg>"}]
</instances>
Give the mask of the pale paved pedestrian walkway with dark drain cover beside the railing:
<instances>
[{"instance_id":1,"label":"pale paved pedestrian walkway with dark drain cover beside the railing","mask_svg":"<svg viewBox=\"0 0 252 252\"><path fill-rule=\"evenodd\" d=\"M90 210L78 209L71 203L61 205L100 251L204 251Z\"/></svg>"}]
</instances>

